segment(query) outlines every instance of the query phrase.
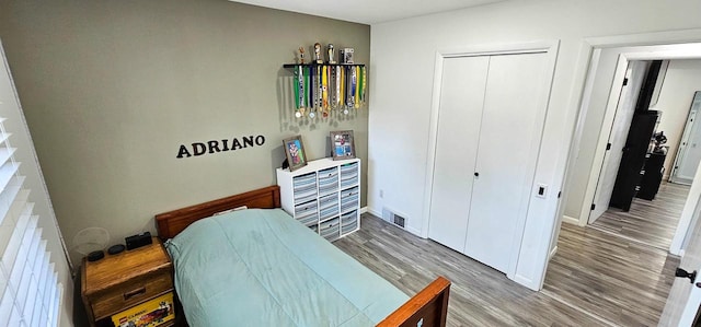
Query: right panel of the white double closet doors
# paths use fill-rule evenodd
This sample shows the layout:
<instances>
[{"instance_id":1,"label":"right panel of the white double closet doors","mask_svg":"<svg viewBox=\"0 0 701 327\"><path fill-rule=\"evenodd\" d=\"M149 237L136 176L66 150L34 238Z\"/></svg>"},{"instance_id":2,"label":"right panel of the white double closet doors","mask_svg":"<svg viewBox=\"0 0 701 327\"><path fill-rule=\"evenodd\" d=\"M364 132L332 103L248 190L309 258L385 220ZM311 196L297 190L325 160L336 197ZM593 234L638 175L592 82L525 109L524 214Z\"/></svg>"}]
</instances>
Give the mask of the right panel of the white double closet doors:
<instances>
[{"instance_id":1,"label":"right panel of the white double closet doors","mask_svg":"<svg viewBox=\"0 0 701 327\"><path fill-rule=\"evenodd\" d=\"M518 255L532 189L545 63L544 52L490 58L464 254L503 272Z\"/></svg>"}]
</instances>

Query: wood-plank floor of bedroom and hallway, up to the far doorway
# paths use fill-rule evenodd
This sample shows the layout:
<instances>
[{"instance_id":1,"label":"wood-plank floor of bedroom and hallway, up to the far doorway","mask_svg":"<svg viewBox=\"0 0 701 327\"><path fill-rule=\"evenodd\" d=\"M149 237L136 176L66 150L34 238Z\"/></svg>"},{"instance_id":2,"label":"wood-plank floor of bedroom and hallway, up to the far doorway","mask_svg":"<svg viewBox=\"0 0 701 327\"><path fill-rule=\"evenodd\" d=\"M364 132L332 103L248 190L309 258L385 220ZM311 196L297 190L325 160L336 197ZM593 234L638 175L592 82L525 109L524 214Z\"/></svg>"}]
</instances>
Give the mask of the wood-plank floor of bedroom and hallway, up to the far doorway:
<instances>
[{"instance_id":1,"label":"wood-plank floor of bedroom and hallway, up to the far doorway","mask_svg":"<svg viewBox=\"0 0 701 327\"><path fill-rule=\"evenodd\" d=\"M451 282L448 326L655 326L678 259L611 233L563 224L544 288L503 273L370 214L334 244L407 294Z\"/></svg>"}]
</instances>

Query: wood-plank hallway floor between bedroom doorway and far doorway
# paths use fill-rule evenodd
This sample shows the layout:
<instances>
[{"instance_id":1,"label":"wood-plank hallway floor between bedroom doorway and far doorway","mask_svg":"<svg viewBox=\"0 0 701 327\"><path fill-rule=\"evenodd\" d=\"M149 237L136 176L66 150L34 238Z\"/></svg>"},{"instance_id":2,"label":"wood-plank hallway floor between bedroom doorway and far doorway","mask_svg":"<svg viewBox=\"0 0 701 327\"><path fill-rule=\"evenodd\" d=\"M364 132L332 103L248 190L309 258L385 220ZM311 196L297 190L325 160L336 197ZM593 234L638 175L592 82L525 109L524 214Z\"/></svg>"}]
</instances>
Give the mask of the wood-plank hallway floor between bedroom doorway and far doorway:
<instances>
[{"instance_id":1,"label":"wood-plank hallway floor between bedroom doorway and far doorway","mask_svg":"<svg viewBox=\"0 0 701 327\"><path fill-rule=\"evenodd\" d=\"M597 229L562 224L542 293L600 326L657 326L679 258Z\"/></svg>"}]
</instances>

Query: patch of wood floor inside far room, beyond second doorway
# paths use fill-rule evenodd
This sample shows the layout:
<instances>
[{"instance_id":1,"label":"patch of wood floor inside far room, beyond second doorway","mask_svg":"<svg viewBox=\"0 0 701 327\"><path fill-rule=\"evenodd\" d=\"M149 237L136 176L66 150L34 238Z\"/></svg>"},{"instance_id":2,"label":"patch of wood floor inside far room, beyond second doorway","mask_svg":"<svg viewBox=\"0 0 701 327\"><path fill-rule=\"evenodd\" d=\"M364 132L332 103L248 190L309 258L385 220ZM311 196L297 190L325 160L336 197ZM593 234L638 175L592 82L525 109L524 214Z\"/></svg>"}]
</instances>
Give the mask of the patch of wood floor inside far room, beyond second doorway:
<instances>
[{"instance_id":1,"label":"patch of wood floor inside far room, beyond second doorway","mask_svg":"<svg viewBox=\"0 0 701 327\"><path fill-rule=\"evenodd\" d=\"M689 186L663 183L654 200L634 198L628 212L609 208L590 226L668 249L688 195Z\"/></svg>"}]
</instances>

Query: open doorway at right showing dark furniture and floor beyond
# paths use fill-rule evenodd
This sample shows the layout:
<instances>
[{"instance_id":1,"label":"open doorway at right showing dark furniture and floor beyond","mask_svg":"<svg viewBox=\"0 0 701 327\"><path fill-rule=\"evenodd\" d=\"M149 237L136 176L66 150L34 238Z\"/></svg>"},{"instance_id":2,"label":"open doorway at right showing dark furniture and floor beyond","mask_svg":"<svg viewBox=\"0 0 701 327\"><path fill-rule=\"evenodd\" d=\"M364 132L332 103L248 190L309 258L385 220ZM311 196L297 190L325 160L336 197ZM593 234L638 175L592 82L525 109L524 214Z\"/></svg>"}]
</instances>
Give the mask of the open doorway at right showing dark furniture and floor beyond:
<instances>
[{"instance_id":1,"label":"open doorway at right showing dark furniture and floor beyond","mask_svg":"<svg viewBox=\"0 0 701 327\"><path fill-rule=\"evenodd\" d=\"M657 72L655 69L657 67L664 69ZM650 78L645 78L645 81L642 81L641 78L646 69L647 77L651 73L657 77L654 90L648 87L650 90L646 91L645 86L641 87L641 82L643 85L648 84L648 86L651 83ZM667 71L668 73L666 73ZM595 208L590 211L588 223L601 231L617 233L632 241L667 249L677 229L683 203L689 194L689 186L665 180L674 168L677 145L679 142L683 143L680 140L683 139L683 125L689 116L692 98L694 98L696 91L693 90L701 90L699 89L701 87L701 60L630 60L625 79L628 83L621 87L610 132L608 136L605 132L601 133L601 137L608 138L610 150L606 151L604 157L593 201ZM611 91L612 94L616 90ZM641 94L641 97L636 97L637 94ZM656 96L646 100L645 94L647 96L656 94ZM642 103L644 109L650 108L650 112L645 113L658 115L654 129L647 129L642 135L640 125L634 124L631 127L631 120L635 121L635 119L631 119L631 116L635 109L636 98L639 104ZM651 124L653 122L654 120L651 121ZM652 128L652 125L648 127ZM636 130L637 133L633 130ZM655 142L655 138L651 142L655 132L657 142ZM628 140L625 140L625 135L628 135ZM637 139L634 138L635 136ZM622 139L623 141L621 141ZM634 144L635 142L641 143L644 148L643 152L639 153L641 161L621 162L621 154L630 153L630 143ZM696 165L693 168L696 172ZM631 172L633 174L631 178L637 184L628 185L630 192L623 195L623 199L628 196L628 203L621 206L620 187L618 194L614 192L611 196L613 183L616 182L616 185L619 186L621 176ZM694 172L691 173L689 180L692 179ZM636 194L633 187L637 187ZM658 190L659 195L657 195ZM609 199L611 199L611 208L609 208Z\"/></svg>"}]
</instances>

